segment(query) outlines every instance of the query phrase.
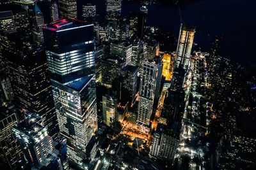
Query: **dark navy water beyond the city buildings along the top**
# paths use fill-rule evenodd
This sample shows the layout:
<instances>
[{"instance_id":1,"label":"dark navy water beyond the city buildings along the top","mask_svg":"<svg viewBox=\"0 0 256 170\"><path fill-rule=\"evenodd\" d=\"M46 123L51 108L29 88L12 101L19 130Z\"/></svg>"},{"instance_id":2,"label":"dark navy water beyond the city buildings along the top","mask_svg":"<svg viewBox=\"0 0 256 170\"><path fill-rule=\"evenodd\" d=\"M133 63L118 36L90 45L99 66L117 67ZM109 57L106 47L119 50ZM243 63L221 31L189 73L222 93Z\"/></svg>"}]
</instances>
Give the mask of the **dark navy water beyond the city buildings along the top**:
<instances>
[{"instance_id":1,"label":"dark navy water beyond the city buildings along the top","mask_svg":"<svg viewBox=\"0 0 256 170\"><path fill-rule=\"evenodd\" d=\"M97 13L104 15L105 0L91 2L97 5ZM140 6L123 1L122 14L138 11ZM202 0L182 6L180 11L183 22L196 27L195 42L203 51L209 50L214 36L223 35L223 55L256 69L256 0ZM147 25L179 34L179 8L158 4L148 6Z\"/></svg>"}]
</instances>

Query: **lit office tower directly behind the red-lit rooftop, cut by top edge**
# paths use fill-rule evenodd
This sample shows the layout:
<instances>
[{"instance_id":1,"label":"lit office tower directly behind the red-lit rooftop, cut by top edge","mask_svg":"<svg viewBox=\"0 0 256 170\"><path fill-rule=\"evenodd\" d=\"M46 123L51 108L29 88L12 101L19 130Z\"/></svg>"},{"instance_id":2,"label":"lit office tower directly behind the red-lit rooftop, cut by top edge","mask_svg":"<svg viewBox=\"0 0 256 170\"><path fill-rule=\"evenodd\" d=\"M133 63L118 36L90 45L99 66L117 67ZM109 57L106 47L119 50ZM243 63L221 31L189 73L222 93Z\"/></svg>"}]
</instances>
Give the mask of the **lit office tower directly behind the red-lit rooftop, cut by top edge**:
<instances>
[{"instance_id":1,"label":"lit office tower directly behind the red-lit rooftop, cut by top edge","mask_svg":"<svg viewBox=\"0 0 256 170\"><path fill-rule=\"evenodd\" d=\"M59 0L60 18L77 18L77 0Z\"/></svg>"}]
</instances>

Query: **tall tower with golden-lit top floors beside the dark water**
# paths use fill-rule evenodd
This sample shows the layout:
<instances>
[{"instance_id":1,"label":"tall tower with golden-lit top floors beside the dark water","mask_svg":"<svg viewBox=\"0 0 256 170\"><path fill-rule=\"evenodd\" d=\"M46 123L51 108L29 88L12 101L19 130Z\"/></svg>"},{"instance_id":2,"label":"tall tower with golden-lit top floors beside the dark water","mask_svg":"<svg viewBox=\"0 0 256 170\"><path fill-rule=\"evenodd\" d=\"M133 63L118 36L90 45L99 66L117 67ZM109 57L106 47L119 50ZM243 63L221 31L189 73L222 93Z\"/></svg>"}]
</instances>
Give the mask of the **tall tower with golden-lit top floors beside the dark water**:
<instances>
[{"instance_id":1,"label":"tall tower with golden-lit top floors beside the dark water","mask_svg":"<svg viewBox=\"0 0 256 170\"><path fill-rule=\"evenodd\" d=\"M185 71L188 69L189 58L193 46L195 28L180 25L180 34L177 46L175 67L181 66Z\"/></svg>"}]
</instances>

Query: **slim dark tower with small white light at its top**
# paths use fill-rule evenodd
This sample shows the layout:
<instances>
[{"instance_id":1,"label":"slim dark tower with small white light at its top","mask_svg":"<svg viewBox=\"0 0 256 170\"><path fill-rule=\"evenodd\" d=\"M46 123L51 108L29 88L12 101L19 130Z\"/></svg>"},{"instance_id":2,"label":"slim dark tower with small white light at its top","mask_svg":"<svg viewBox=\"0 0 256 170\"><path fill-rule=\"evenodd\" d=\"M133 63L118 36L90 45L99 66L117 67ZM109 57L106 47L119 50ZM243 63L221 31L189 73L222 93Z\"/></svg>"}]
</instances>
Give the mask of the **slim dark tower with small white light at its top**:
<instances>
[{"instance_id":1,"label":"slim dark tower with small white light at its top","mask_svg":"<svg viewBox=\"0 0 256 170\"><path fill-rule=\"evenodd\" d=\"M138 28L137 35L139 38L143 38L146 22L147 22L148 9L147 6L141 6L140 12L138 13Z\"/></svg>"}]
</instances>

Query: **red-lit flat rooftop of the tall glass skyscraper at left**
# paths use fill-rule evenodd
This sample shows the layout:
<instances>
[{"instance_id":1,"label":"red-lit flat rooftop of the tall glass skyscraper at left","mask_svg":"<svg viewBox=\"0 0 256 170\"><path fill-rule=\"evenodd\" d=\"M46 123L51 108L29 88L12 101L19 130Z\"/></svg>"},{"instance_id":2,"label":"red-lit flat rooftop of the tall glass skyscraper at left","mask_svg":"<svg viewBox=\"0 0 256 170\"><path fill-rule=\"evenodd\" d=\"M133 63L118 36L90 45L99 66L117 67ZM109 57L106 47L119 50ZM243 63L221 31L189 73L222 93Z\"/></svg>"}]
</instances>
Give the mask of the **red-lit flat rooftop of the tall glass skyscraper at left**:
<instances>
[{"instance_id":1,"label":"red-lit flat rooftop of the tall glass skyscraper at left","mask_svg":"<svg viewBox=\"0 0 256 170\"><path fill-rule=\"evenodd\" d=\"M92 24L81 20L75 20L70 18L62 18L60 20L56 20L44 26L44 29L49 29L51 31L62 31L67 29L72 29L75 27L86 27Z\"/></svg>"}]
</instances>

